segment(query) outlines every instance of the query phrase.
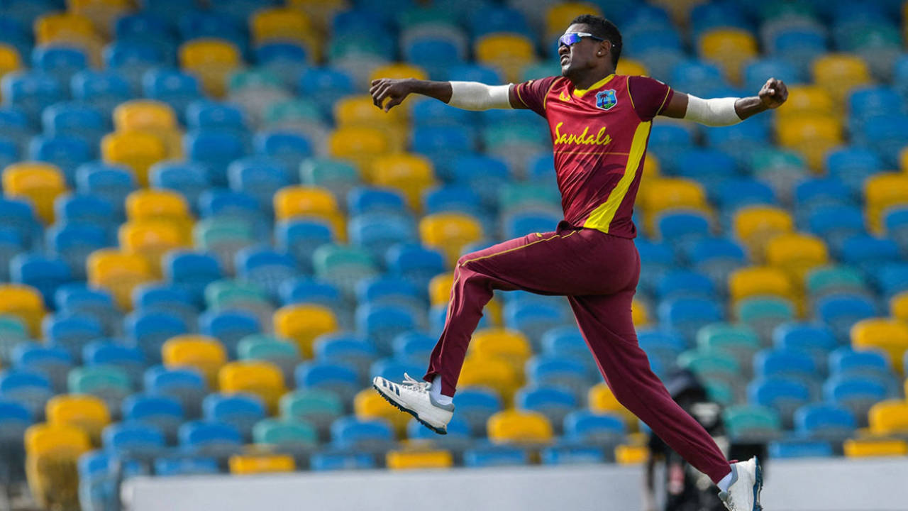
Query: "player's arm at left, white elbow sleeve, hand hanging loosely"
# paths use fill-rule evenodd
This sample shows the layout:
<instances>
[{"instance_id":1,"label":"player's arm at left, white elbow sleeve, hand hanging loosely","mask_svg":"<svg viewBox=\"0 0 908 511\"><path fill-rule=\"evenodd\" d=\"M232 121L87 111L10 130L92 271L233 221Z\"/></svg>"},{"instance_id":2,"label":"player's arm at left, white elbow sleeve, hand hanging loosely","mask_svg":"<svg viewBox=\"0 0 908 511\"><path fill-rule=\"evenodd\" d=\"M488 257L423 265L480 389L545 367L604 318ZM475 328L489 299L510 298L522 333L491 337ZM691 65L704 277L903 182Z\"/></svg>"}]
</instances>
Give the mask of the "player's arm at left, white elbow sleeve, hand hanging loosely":
<instances>
[{"instance_id":1,"label":"player's arm at left, white elbow sleeve, hand hanging loosely","mask_svg":"<svg viewBox=\"0 0 908 511\"><path fill-rule=\"evenodd\" d=\"M403 103L410 94L434 97L442 103L465 110L488 110L489 108L526 108L514 105L514 85L485 85L479 82L434 82L415 78L380 78L372 80L369 94L372 103L385 112Z\"/></svg>"}]
</instances>

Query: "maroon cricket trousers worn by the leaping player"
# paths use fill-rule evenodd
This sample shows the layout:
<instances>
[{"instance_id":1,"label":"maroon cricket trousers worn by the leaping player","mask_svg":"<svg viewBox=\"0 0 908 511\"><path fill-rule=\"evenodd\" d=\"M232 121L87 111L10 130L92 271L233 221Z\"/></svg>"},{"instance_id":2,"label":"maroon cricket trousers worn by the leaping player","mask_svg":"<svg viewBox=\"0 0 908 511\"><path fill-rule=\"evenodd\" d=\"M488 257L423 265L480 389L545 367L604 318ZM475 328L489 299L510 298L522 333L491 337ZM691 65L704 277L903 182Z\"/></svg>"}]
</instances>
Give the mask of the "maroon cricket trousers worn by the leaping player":
<instances>
[{"instance_id":1,"label":"maroon cricket trousers worn by the leaping player","mask_svg":"<svg viewBox=\"0 0 908 511\"><path fill-rule=\"evenodd\" d=\"M678 406L637 344L631 302L640 276L634 240L565 222L463 255L454 269L448 318L424 379L441 376L454 396L482 308L496 289L568 296L577 326L618 402L668 446L718 482L731 469L703 426Z\"/></svg>"}]
</instances>

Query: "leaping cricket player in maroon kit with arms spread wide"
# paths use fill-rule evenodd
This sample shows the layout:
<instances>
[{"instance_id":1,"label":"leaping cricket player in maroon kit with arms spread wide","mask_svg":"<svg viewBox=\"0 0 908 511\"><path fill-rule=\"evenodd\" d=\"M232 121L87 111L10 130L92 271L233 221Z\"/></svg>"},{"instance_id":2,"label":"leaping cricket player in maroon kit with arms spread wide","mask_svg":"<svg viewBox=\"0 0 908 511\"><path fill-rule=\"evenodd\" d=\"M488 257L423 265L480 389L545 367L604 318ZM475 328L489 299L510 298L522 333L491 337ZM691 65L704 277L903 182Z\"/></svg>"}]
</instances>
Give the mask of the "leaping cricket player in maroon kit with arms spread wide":
<instances>
[{"instance_id":1,"label":"leaping cricket player in maroon kit with arms spread wide","mask_svg":"<svg viewBox=\"0 0 908 511\"><path fill-rule=\"evenodd\" d=\"M616 75L621 35L611 22L577 16L559 38L561 76L518 85L380 79L375 105L388 111L410 95L459 108L528 108L548 121L564 220L534 233L463 255L454 269L448 318L429 370L375 389L437 433L446 433L469 339L492 292L522 289L567 296L577 326L618 402L687 462L710 476L732 511L760 509L763 476L754 457L725 460L704 428L677 406L637 345L631 300L640 258L631 221L650 126L656 115L703 125L733 125L785 103L785 84L770 78L758 95L701 99L646 76Z\"/></svg>"}]
</instances>

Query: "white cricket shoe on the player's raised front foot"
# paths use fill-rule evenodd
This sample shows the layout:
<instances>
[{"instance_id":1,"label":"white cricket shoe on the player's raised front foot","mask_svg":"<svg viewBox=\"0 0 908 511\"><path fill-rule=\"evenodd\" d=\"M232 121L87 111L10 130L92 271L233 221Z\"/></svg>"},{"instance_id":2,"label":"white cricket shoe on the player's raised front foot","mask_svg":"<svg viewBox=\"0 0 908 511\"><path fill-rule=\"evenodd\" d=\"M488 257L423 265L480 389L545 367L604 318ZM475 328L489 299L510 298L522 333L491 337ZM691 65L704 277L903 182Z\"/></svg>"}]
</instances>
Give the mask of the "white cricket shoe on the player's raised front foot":
<instances>
[{"instance_id":1,"label":"white cricket shoe on the player's raised front foot","mask_svg":"<svg viewBox=\"0 0 908 511\"><path fill-rule=\"evenodd\" d=\"M429 389L432 384L414 380L407 373L402 384L396 384L380 376L372 378L372 386L391 405L416 417L423 426L439 435L448 434L448 423L454 415L454 405L441 405L432 398Z\"/></svg>"}]
</instances>

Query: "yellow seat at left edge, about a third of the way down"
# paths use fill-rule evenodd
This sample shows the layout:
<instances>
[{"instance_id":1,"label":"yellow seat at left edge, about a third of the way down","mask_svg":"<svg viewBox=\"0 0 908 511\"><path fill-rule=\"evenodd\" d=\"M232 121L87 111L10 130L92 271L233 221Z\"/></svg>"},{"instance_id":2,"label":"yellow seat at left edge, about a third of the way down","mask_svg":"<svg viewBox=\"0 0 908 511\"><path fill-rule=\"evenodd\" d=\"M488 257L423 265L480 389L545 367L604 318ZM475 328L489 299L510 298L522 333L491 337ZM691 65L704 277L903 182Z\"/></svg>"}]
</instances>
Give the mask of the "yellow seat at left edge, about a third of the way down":
<instances>
[{"instance_id":1,"label":"yellow seat at left edge, about a third of the way down","mask_svg":"<svg viewBox=\"0 0 908 511\"><path fill-rule=\"evenodd\" d=\"M26 198L46 224L54 223L54 199L66 191L66 180L56 165L21 162L3 171L3 189L8 197Z\"/></svg>"}]
</instances>

